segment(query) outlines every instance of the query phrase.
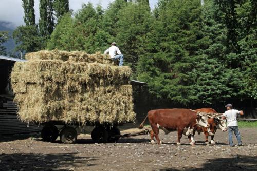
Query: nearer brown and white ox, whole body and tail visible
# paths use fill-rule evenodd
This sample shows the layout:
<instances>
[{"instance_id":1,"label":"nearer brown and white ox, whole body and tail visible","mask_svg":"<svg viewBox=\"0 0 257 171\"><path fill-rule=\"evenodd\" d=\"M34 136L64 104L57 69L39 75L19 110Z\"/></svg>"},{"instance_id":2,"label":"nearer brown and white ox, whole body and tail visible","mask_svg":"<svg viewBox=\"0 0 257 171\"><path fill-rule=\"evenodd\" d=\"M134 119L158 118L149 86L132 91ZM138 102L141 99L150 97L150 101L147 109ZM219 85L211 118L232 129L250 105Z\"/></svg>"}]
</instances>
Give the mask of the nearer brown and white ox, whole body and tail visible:
<instances>
[{"instance_id":1,"label":"nearer brown and white ox, whole body and tail visible","mask_svg":"<svg viewBox=\"0 0 257 171\"><path fill-rule=\"evenodd\" d=\"M161 144L159 139L159 129L162 129L165 134L171 131L176 131L178 134L177 144L180 144L182 134L189 136L192 134L194 127L197 125L208 127L207 116L197 116L197 112L191 109L158 109L150 110L148 115L145 117L139 128L143 128L143 123L148 118L149 123L152 127L150 132L151 143L154 143L154 137L158 144ZM189 138L190 144L192 142L191 137Z\"/></svg>"}]
</instances>

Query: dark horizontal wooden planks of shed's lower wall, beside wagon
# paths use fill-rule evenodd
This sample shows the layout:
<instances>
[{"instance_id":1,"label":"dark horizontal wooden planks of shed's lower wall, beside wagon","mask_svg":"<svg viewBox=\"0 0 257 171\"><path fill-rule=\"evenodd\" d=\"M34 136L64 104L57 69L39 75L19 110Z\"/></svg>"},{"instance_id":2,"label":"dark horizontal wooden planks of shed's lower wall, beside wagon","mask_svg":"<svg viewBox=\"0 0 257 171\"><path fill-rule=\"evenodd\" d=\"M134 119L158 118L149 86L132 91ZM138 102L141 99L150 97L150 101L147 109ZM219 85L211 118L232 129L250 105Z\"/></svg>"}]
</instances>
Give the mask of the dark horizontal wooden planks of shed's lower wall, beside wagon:
<instances>
[{"instance_id":1,"label":"dark horizontal wooden planks of shed's lower wall, beside wagon","mask_svg":"<svg viewBox=\"0 0 257 171\"><path fill-rule=\"evenodd\" d=\"M41 131L42 126L28 125L20 121L13 98L11 95L0 95L0 135Z\"/></svg>"}]
</instances>

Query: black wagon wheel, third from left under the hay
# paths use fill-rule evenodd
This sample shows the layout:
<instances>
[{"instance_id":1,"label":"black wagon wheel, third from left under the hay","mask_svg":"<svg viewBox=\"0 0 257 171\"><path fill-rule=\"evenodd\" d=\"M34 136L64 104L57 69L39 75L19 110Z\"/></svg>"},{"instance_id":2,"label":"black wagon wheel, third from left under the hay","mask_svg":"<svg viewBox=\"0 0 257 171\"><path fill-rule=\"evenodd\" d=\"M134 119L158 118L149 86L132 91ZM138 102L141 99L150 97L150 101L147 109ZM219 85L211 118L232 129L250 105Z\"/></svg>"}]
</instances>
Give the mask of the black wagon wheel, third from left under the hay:
<instances>
[{"instance_id":1,"label":"black wagon wheel, third from left under the hay","mask_svg":"<svg viewBox=\"0 0 257 171\"><path fill-rule=\"evenodd\" d=\"M108 132L104 127L95 127L91 132L91 138L96 143L106 143Z\"/></svg>"}]
</instances>

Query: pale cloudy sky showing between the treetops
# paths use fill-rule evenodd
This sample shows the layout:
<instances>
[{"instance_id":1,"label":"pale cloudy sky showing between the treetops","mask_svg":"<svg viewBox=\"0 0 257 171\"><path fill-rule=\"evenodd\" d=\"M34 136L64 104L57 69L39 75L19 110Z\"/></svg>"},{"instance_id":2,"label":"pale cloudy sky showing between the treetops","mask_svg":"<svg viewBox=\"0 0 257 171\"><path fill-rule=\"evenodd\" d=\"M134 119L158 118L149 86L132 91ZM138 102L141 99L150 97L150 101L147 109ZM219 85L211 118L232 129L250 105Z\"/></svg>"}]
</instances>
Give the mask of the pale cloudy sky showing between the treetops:
<instances>
[{"instance_id":1,"label":"pale cloudy sky showing between the treetops","mask_svg":"<svg viewBox=\"0 0 257 171\"><path fill-rule=\"evenodd\" d=\"M102 7L106 9L108 4L114 0L69 0L69 8L75 12L81 8L81 5L91 2L96 6L99 2ZM158 0L150 0L151 9L154 8ZM35 15L36 23L39 20L39 0L35 0ZM22 0L0 0L0 21L11 22L13 27L24 25L23 21L24 10L22 7Z\"/></svg>"}]
</instances>

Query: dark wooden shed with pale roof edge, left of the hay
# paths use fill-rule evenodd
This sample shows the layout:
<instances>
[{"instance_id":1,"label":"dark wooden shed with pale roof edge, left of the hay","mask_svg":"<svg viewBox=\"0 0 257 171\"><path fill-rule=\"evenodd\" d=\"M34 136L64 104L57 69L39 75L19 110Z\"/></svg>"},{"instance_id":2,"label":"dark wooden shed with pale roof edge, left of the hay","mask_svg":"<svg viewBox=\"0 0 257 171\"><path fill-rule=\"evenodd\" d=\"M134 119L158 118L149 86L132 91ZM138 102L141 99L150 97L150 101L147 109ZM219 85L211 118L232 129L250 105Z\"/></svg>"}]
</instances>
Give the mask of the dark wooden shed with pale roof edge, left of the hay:
<instances>
[{"instance_id":1,"label":"dark wooden shed with pale roof edge, left of the hay","mask_svg":"<svg viewBox=\"0 0 257 171\"><path fill-rule=\"evenodd\" d=\"M22 123L17 116L17 106L13 103L10 73L15 62L26 60L0 55L0 135L22 134L41 131L42 127Z\"/></svg>"}]
</instances>

